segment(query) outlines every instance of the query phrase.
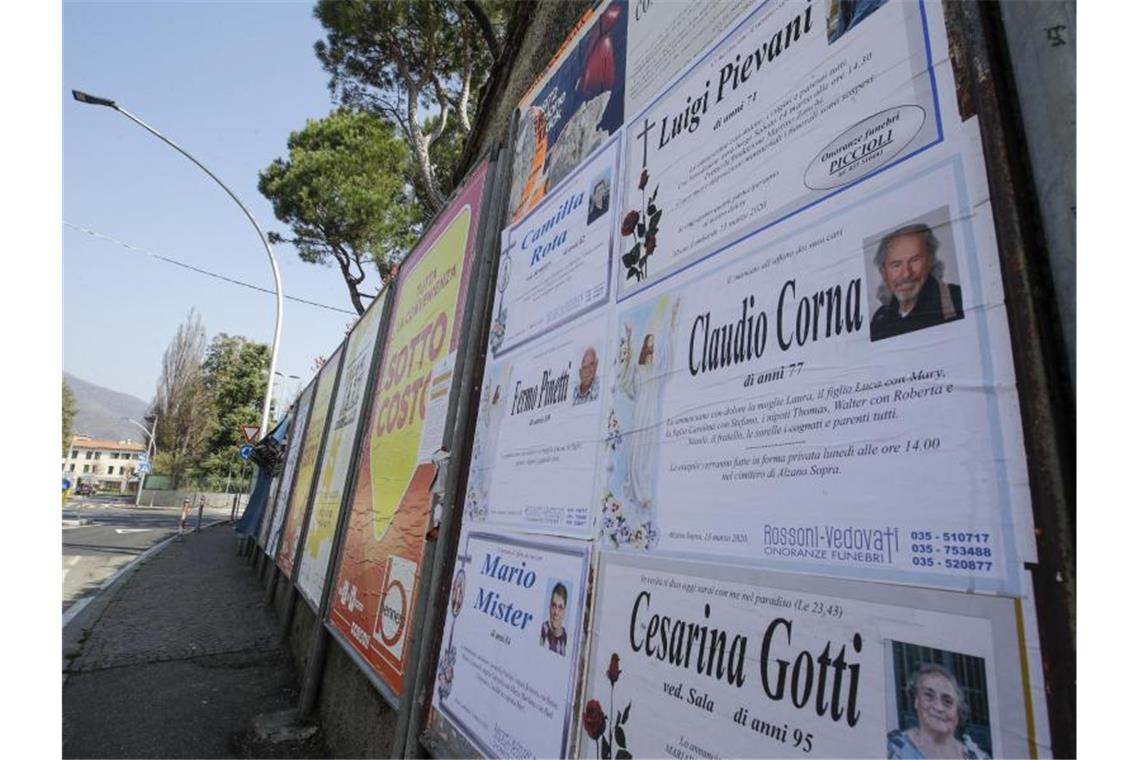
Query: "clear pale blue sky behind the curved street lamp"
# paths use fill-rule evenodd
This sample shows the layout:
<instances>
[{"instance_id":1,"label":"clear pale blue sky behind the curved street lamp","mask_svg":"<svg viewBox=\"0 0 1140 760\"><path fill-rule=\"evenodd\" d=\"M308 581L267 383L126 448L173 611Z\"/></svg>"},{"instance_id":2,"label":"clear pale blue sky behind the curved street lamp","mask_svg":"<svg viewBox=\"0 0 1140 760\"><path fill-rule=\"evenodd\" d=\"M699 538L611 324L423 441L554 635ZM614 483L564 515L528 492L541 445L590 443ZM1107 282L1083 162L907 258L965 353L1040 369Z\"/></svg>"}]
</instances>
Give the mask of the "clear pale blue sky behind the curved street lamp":
<instances>
[{"instance_id":1,"label":"clear pale blue sky behind the curved street lamp","mask_svg":"<svg viewBox=\"0 0 1140 760\"><path fill-rule=\"evenodd\" d=\"M258 172L288 133L335 104L312 51L311 2L65 2L63 76L63 368L149 401L162 353L193 308L207 336L270 343L275 300L145 253L269 291L256 232L205 173L125 116L72 99L117 101L194 155L263 229L287 232L258 193ZM96 237L75 228L98 232ZM292 398L355 321L339 270L275 246L287 296L278 395ZM375 285L375 283L373 283ZM256 422L256 420L253 420Z\"/></svg>"}]
</instances>

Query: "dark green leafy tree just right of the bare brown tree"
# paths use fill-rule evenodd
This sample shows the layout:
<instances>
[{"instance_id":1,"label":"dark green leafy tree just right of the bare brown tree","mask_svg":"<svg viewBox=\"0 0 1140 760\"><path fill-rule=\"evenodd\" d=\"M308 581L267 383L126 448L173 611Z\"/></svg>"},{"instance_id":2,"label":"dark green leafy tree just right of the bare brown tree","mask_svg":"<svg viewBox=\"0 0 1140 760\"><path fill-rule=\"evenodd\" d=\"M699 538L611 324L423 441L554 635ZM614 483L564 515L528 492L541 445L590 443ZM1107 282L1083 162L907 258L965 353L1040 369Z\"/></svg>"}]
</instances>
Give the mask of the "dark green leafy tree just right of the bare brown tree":
<instances>
[{"instance_id":1,"label":"dark green leafy tree just right of the bare brown tree","mask_svg":"<svg viewBox=\"0 0 1140 760\"><path fill-rule=\"evenodd\" d=\"M242 425L261 419L269 376L269 346L238 335L214 336L202 362L203 384L210 399L205 453L196 476L225 477L245 439Z\"/></svg>"}]
</instances>

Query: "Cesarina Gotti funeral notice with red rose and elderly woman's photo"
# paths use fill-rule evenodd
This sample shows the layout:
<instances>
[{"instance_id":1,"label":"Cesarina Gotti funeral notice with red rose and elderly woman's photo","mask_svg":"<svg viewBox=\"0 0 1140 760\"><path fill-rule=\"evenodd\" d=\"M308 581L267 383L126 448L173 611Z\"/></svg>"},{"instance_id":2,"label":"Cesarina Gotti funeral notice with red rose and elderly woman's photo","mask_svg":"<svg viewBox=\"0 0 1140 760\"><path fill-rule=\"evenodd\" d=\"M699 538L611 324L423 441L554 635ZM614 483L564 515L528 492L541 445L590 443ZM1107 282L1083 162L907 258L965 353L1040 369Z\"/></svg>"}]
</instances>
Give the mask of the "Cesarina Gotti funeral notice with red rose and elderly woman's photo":
<instances>
[{"instance_id":1,"label":"Cesarina Gotti funeral notice with red rose and elderly woman's photo","mask_svg":"<svg viewBox=\"0 0 1140 760\"><path fill-rule=\"evenodd\" d=\"M1020 602L602 556L578 757L1025 758Z\"/></svg>"}]
</instances>

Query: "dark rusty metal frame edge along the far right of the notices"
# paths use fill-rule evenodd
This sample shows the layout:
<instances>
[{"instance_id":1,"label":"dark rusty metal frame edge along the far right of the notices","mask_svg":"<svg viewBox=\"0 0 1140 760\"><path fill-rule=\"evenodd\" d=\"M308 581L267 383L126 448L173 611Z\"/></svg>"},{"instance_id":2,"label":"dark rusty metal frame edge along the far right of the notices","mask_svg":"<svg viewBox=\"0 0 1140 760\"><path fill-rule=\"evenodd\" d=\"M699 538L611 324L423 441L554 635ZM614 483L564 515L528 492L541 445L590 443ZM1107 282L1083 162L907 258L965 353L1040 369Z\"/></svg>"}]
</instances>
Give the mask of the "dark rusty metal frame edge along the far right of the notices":
<instances>
[{"instance_id":1,"label":"dark rusty metal frame edge along the far right of the notices","mask_svg":"<svg viewBox=\"0 0 1140 760\"><path fill-rule=\"evenodd\" d=\"M1076 402L997 3L945 2L977 108L1033 502L1033 579L1054 757L1076 755ZM956 30L954 28L956 27Z\"/></svg>"}]
</instances>

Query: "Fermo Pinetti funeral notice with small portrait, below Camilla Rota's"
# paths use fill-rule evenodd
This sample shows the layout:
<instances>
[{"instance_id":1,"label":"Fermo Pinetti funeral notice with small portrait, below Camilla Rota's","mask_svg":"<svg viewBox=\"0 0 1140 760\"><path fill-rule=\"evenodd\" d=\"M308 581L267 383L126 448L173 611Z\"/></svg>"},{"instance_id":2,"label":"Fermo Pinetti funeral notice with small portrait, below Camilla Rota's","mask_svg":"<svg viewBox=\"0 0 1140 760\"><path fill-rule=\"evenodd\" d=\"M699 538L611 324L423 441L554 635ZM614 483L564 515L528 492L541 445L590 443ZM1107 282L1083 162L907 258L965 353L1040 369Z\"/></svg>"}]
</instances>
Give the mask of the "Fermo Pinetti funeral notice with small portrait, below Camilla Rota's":
<instances>
[{"instance_id":1,"label":"Fermo Pinetti funeral notice with small portrait, below Camilla Rota's","mask_svg":"<svg viewBox=\"0 0 1140 760\"><path fill-rule=\"evenodd\" d=\"M589 538L612 362L598 312L488 363L464 521Z\"/></svg>"}]
</instances>

